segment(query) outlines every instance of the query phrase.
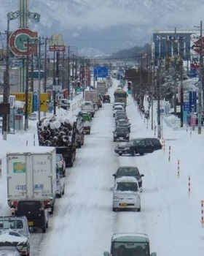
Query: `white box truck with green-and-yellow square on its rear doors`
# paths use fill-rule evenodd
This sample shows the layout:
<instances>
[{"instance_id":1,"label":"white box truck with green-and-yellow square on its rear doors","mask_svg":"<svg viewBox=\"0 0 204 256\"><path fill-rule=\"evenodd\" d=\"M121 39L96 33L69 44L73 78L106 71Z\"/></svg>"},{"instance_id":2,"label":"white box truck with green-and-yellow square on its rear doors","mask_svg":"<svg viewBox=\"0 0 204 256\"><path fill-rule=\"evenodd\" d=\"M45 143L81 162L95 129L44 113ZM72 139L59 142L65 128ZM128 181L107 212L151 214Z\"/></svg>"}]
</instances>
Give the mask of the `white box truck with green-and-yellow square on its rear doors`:
<instances>
[{"instance_id":1,"label":"white box truck with green-and-yellow square on its rear doors","mask_svg":"<svg viewBox=\"0 0 204 256\"><path fill-rule=\"evenodd\" d=\"M55 147L25 147L7 153L7 202L12 214L19 200L41 200L52 213L55 197Z\"/></svg>"}]
</instances>

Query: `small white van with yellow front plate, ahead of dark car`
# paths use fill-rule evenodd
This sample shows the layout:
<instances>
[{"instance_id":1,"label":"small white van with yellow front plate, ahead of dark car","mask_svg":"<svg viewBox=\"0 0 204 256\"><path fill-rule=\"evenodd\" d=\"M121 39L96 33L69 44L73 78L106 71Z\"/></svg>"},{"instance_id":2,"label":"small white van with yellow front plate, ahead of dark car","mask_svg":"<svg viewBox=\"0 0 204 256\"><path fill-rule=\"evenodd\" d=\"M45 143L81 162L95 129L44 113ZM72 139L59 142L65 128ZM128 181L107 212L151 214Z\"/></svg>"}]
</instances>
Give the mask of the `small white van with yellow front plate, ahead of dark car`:
<instances>
[{"instance_id":1,"label":"small white van with yellow front plate, ahead of dark car","mask_svg":"<svg viewBox=\"0 0 204 256\"><path fill-rule=\"evenodd\" d=\"M141 197L137 179L123 176L114 184L113 211L127 208L141 211Z\"/></svg>"}]
</instances>

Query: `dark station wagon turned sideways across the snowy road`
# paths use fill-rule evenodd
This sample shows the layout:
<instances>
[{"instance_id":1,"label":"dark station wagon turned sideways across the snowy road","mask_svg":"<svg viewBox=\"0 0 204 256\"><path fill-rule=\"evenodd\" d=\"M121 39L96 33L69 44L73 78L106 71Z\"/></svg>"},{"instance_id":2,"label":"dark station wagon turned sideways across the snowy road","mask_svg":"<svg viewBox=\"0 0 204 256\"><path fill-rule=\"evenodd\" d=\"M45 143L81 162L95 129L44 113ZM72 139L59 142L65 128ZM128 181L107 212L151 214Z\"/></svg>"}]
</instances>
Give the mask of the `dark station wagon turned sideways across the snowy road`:
<instances>
[{"instance_id":1,"label":"dark station wagon turned sideways across the snowy road","mask_svg":"<svg viewBox=\"0 0 204 256\"><path fill-rule=\"evenodd\" d=\"M157 138L137 138L130 140L125 145L118 145L114 151L119 154L119 156L122 156L122 154L134 156L135 154L143 155L152 153L159 149L162 149L162 145Z\"/></svg>"}]
</instances>

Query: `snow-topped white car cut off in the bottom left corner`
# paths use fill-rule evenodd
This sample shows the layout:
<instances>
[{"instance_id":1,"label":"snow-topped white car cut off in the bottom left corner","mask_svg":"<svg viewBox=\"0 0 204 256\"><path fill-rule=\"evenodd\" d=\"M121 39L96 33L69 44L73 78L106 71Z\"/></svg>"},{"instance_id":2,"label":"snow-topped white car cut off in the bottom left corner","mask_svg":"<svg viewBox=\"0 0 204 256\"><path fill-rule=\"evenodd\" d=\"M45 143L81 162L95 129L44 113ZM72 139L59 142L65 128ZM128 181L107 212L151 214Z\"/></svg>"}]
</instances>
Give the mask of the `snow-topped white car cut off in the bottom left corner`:
<instances>
[{"instance_id":1,"label":"snow-topped white car cut off in the bottom left corner","mask_svg":"<svg viewBox=\"0 0 204 256\"><path fill-rule=\"evenodd\" d=\"M6 250L6 252L12 252L12 253L15 252L15 254L13 255L17 255L17 252L19 252L21 256L30 255L29 239L15 230L0 231L0 248L2 251ZM1 251L0 251L0 255L1 255Z\"/></svg>"}]
</instances>

